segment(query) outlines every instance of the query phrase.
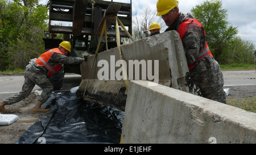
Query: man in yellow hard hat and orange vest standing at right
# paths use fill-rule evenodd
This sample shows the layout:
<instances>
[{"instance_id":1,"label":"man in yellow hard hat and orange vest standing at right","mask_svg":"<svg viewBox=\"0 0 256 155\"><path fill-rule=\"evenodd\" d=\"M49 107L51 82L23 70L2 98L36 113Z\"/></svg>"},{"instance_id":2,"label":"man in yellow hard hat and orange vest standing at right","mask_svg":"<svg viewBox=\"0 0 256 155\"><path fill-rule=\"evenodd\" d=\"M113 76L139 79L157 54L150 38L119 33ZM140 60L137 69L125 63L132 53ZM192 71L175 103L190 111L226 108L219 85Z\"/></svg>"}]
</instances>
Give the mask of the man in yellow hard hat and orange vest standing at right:
<instances>
[{"instance_id":1,"label":"man in yellow hard hat and orange vest standing at right","mask_svg":"<svg viewBox=\"0 0 256 155\"><path fill-rule=\"evenodd\" d=\"M179 12L177 0L158 0L156 8L168 28L179 33L189 68L189 76L201 90L201 95L226 104L221 68L213 58L206 41L203 25L191 14Z\"/></svg>"}]
</instances>

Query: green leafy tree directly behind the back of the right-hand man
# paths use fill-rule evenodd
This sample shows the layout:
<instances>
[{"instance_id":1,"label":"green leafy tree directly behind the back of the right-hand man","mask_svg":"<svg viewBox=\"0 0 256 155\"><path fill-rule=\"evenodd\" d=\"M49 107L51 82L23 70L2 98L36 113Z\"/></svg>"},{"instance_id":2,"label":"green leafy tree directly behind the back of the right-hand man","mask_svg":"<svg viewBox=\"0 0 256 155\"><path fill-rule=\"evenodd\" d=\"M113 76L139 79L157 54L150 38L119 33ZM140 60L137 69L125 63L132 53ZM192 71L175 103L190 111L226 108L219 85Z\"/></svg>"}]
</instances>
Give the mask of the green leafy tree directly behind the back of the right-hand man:
<instances>
[{"instance_id":1,"label":"green leafy tree directly behind the back of the right-hand man","mask_svg":"<svg viewBox=\"0 0 256 155\"><path fill-rule=\"evenodd\" d=\"M224 52L229 48L229 41L238 33L238 28L230 25L228 10L222 8L222 2L204 1L193 7L192 15L203 24L207 33L207 42L214 58L218 62L225 62Z\"/></svg>"}]
</instances>

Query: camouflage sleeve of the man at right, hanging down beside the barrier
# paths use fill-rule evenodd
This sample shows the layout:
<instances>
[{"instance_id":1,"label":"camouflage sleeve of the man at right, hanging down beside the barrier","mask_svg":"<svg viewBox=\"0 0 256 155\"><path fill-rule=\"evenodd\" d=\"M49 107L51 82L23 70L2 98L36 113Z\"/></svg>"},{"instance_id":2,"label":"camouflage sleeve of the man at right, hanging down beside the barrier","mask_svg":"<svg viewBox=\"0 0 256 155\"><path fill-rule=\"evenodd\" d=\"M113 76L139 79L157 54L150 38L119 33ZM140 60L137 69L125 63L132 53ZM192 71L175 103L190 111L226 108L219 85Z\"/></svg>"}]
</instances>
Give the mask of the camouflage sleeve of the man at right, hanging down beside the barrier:
<instances>
[{"instance_id":1,"label":"camouflage sleeve of the man at right, hanging down beside the barrier","mask_svg":"<svg viewBox=\"0 0 256 155\"><path fill-rule=\"evenodd\" d=\"M204 48L204 41L201 40L202 34L204 35L204 29L200 25L193 22L188 24L187 32L183 37L183 46L188 64L193 64L201 49Z\"/></svg>"}]
</instances>

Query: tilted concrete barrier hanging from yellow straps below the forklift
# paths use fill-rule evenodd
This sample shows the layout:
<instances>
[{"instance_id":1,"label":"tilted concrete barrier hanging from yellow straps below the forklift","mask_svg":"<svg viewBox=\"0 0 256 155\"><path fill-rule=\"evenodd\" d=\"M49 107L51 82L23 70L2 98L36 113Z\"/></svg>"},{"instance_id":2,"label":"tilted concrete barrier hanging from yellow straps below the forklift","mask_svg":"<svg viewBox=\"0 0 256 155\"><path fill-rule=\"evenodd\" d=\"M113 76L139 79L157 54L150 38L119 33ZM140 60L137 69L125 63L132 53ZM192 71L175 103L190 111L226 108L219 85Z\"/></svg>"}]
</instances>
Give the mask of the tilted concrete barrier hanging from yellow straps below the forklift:
<instances>
[{"instance_id":1,"label":"tilted concrete barrier hanging from yellow straps below the forklift","mask_svg":"<svg viewBox=\"0 0 256 155\"><path fill-rule=\"evenodd\" d=\"M93 67L94 55L81 63L82 81L77 96L124 111L127 98L125 80L117 78L117 75L124 75L124 72L127 73L129 80L156 81L188 92L185 85L188 64L183 44L176 31L164 32L122 45L121 51L126 71L123 71L122 65L118 63L118 48L98 53ZM148 75L154 75L154 78L150 79Z\"/></svg>"}]
</instances>

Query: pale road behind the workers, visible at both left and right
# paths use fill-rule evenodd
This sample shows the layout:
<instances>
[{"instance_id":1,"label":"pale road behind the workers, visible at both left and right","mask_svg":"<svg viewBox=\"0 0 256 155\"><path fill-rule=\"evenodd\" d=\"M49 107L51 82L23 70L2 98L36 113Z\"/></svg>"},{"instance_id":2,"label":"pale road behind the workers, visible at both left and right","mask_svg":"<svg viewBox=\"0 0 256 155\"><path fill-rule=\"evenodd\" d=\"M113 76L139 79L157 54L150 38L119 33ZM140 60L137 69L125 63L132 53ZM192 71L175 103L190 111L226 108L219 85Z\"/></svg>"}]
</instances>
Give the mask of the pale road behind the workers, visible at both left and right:
<instances>
[{"instance_id":1,"label":"pale road behind the workers, visible at both left and right","mask_svg":"<svg viewBox=\"0 0 256 155\"><path fill-rule=\"evenodd\" d=\"M256 72L255 71L224 71L224 86L246 86L256 85ZM69 90L73 87L79 86L81 76L77 74L65 75L63 90ZM18 93L22 90L24 83L23 76L0 76L0 94ZM37 85L33 89L42 90ZM256 91L256 87L255 87Z\"/></svg>"}]
</instances>

